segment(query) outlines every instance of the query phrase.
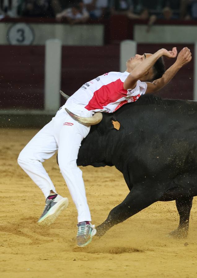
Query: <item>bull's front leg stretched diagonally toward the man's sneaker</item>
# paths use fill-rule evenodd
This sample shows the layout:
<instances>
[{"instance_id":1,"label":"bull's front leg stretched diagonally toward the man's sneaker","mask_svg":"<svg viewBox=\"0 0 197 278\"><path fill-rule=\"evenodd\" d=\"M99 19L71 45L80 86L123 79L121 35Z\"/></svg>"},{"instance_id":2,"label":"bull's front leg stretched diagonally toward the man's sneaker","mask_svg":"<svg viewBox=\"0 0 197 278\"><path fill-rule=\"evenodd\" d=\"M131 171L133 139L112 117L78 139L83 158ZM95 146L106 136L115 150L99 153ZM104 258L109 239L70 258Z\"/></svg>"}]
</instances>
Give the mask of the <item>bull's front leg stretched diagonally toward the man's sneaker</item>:
<instances>
[{"instance_id":1,"label":"bull's front leg stretched diagonally toward the man's sneaker","mask_svg":"<svg viewBox=\"0 0 197 278\"><path fill-rule=\"evenodd\" d=\"M138 185L133 187L125 200L113 208L107 219L96 227L96 235L101 237L112 226L125 221L127 218L158 201L162 194L163 193L159 192L158 186L144 187Z\"/></svg>"}]
</instances>

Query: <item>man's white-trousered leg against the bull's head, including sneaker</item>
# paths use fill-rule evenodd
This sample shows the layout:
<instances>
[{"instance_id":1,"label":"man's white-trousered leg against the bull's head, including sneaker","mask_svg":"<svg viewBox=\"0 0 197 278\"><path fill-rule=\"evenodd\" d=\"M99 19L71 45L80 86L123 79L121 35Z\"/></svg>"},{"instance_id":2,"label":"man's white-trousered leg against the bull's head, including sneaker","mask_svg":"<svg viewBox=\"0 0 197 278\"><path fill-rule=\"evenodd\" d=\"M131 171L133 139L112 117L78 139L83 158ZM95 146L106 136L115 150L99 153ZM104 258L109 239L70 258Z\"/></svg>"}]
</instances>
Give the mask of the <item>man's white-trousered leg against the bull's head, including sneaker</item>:
<instances>
[{"instance_id":1,"label":"man's white-trousered leg against the bull's head, including sneaker","mask_svg":"<svg viewBox=\"0 0 197 278\"><path fill-rule=\"evenodd\" d=\"M65 121L66 124L62 125L58 138L58 162L61 174L77 208L79 223L77 245L83 247L91 241L92 236L96 233L94 226L89 223L91 216L85 195L82 171L77 167L81 141L89 133L90 127L79 124L70 116L67 116Z\"/></svg>"}]
</instances>

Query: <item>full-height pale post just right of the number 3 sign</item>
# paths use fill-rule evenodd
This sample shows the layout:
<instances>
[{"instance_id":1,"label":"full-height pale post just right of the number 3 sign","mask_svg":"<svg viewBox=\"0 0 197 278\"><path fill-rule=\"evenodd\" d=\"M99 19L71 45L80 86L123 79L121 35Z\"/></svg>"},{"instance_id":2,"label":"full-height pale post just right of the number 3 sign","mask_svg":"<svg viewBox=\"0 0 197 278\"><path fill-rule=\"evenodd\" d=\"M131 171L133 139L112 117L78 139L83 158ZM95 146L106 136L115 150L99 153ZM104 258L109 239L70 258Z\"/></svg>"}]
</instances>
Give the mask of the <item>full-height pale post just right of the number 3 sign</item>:
<instances>
[{"instance_id":1,"label":"full-height pale post just right of the number 3 sign","mask_svg":"<svg viewBox=\"0 0 197 278\"><path fill-rule=\"evenodd\" d=\"M56 112L60 107L62 42L46 40L45 44L45 88L44 110Z\"/></svg>"}]
</instances>

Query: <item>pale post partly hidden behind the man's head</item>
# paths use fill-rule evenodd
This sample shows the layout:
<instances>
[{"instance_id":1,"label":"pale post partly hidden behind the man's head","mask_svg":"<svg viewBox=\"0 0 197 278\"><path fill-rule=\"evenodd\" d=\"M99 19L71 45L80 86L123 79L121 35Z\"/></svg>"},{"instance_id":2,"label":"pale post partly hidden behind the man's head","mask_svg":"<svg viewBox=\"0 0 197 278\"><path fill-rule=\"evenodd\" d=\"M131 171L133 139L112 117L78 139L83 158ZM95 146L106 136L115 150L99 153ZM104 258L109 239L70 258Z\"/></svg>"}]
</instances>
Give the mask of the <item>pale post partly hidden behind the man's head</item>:
<instances>
[{"instance_id":1,"label":"pale post partly hidden behind the man's head","mask_svg":"<svg viewBox=\"0 0 197 278\"><path fill-rule=\"evenodd\" d=\"M137 43L134 40L123 40L120 43L120 72L126 70L126 61L135 56Z\"/></svg>"}]
</instances>

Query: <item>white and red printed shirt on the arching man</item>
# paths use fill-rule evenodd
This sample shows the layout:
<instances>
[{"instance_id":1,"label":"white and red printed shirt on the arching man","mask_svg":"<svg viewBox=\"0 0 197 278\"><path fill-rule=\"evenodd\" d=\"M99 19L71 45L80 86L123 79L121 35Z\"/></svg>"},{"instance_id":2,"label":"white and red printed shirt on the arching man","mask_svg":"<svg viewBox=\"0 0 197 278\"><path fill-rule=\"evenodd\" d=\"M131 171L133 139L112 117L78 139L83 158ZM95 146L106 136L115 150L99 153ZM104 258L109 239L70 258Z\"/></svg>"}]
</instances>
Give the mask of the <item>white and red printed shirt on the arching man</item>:
<instances>
[{"instance_id":1,"label":"white and red printed shirt on the arching man","mask_svg":"<svg viewBox=\"0 0 197 278\"><path fill-rule=\"evenodd\" d=\"M134 89L125 90L123 85L127 71L108 72L86 82L66 102L66 105L79 104L93 112L115 112L123 104L135 102L147 90L146 82L137 81Z\"/></svg>"}]
</instances>

